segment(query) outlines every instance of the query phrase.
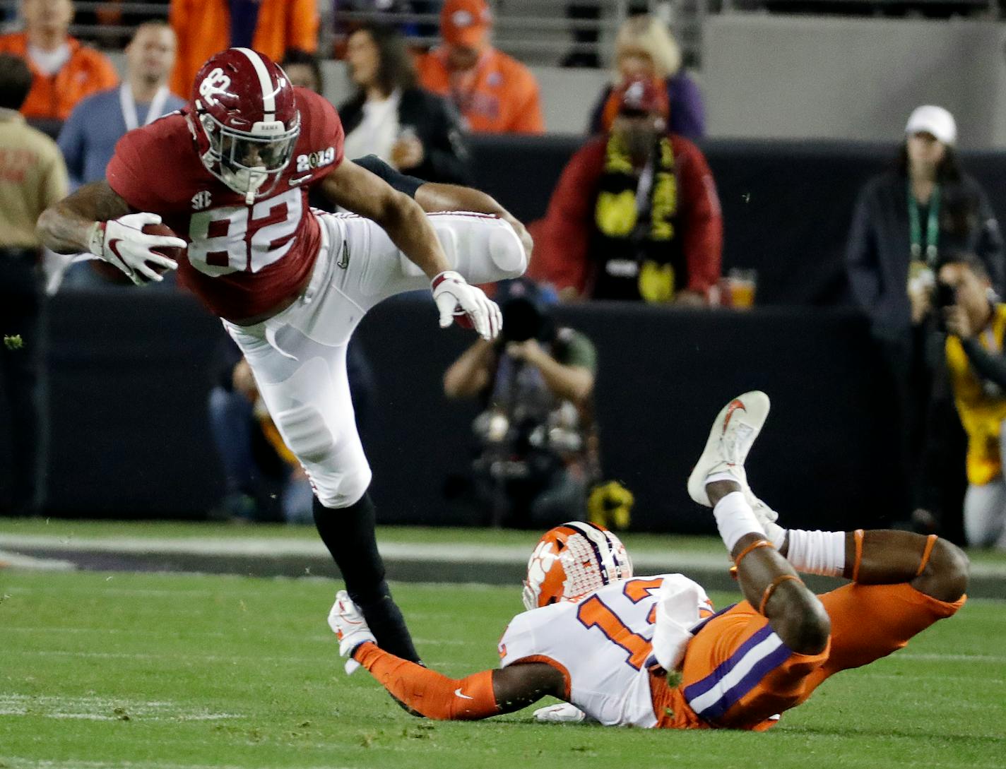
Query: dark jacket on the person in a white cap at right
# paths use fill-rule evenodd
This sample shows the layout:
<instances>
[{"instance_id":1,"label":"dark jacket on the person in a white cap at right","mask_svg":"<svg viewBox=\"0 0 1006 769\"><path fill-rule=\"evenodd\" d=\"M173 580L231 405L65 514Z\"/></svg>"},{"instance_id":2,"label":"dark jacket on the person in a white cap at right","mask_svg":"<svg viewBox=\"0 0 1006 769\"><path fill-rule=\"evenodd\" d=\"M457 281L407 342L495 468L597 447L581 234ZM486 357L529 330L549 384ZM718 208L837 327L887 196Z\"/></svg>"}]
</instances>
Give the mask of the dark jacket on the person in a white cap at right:
<instances>
[{"instance_id":1,"label":"dark jacket on the person in a white cap at right","mask_svg":"<svg viewBox=\"0 0 1006 769\"><path fill-rule=\"evenodd\" d=\"M866 183L859 193L846 246L853 297L870 317L874 331L884 336L902 334L911 325L907 293L911 235L906 184L905 177L896 171ZM985 264L992 286L1002 295L1006 278L1003 242L985 192L965 175L960 182L943 186L943 200L940 255L974 253ZM949 220L952 207L971 209L964 217L966 224Z\"/></svg>"}]
</instances>

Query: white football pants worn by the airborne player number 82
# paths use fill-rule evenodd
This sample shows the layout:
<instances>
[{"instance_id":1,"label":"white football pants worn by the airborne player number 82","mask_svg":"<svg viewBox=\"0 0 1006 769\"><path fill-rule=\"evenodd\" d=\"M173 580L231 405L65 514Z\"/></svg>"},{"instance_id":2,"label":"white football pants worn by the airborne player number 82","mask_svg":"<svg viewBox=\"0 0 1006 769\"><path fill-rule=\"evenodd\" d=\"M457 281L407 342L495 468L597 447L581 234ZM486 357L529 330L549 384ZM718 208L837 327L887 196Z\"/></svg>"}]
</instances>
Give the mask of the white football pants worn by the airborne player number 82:
<instances>
[{"instance_id":1,"label":"white football pants worn by the airborne player number 82","mask_svg":"<svg viewBox=\"0 0 1006 769\"><path fill-rule=\"evenodd\" d=\"M371 477L349 397L346 345L370 308L395 294L429 291L430 278L369 219L316 215L322 245L304 294L263 323L223 325L319 502L346 508L363 497ZM472 213L428 216L452 268L469 282L517 277L527 268L520 238L506 222ZM431 298L430 323L437 320Z\"/></svg>"}]
</instances>

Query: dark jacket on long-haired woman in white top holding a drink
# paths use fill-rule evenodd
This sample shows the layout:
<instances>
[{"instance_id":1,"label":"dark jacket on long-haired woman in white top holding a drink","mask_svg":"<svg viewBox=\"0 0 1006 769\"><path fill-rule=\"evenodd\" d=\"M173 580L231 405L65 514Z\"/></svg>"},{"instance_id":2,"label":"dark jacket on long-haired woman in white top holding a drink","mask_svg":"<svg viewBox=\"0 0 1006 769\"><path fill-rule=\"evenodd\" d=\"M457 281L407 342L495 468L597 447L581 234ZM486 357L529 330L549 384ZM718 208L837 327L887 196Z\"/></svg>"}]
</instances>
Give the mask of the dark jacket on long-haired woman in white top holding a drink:
<instances>
[{"instance_id":1,"label":"dark jacket on long-haired woman in white top holding a drink","mask_svg":"<svg viewBox=\"0 0 1006 769\"><path fill-rule=\"evenodd\" d=\"M358 93L339 107L347 134L363 120L364 101ZM405 88L398 102L398 125L410 128L423 142L423 164L407 169L411 176L428 182L471 184L461 121L450 102L421 87Z\"/></svg>"}]
</instances>

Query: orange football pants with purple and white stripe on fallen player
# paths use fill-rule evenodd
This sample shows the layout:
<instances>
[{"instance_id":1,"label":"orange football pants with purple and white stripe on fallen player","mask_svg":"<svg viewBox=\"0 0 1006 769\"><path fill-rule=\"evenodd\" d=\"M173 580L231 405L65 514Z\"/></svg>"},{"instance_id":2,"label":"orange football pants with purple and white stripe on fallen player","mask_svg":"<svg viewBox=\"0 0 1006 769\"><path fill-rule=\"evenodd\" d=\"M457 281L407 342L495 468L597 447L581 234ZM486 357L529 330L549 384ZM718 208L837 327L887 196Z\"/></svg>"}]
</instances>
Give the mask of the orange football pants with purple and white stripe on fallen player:
<instances>
[{"instance_id":1,"label":"orange football pants with purple and white stripe on fallen player","mask_svg":"<svg viewBox=\"0 0 1006 769\"><path fill-rule=\"evenodd\" d=\"M685 652L680 692L704 725L768 729L773 716L803 703L828 677L902 648L967 600L940 601L907 583L852 583L819 597L831 618L831 638L819 654L791 651L746 601L699 629ZM660 721L674 726L667 716Z\"/></svg>"}]
</instances>

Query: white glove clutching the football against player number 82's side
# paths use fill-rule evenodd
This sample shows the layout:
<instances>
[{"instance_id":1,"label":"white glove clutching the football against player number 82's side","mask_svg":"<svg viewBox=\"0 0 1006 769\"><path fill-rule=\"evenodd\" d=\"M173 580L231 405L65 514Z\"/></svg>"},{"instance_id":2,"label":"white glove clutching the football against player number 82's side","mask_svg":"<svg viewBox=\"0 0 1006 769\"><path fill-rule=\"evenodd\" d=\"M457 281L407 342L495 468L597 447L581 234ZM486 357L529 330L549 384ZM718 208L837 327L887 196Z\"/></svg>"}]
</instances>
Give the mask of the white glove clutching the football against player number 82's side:
<instances>
[{"instance_id":1,"label":"white glove clutching the football against player number 82's side","mask_svg":"<svg viewBox=\"0 0 1006 769\"><path fill-rule=\"evenodd\" d=\"M95 222L88 237L88 250L110 264L115 264L137 285L164 279L147 263L167 269L177 269L178 262L152 249L157 247L184 248L180 237L148 235L143 228L160 224L161 217L152 213L126 214L118 219Z\"/></svg>"}]
</instances>

